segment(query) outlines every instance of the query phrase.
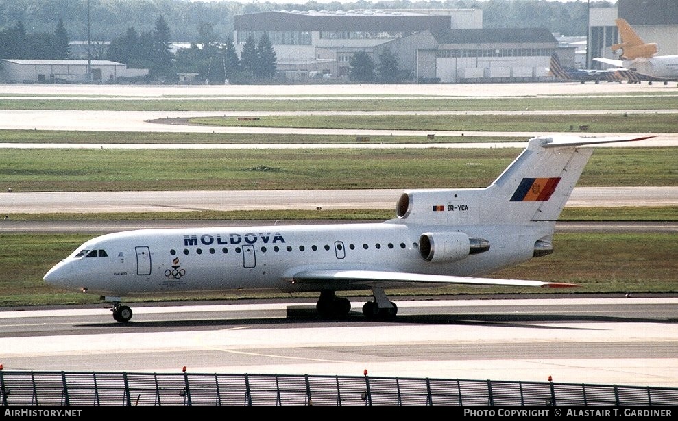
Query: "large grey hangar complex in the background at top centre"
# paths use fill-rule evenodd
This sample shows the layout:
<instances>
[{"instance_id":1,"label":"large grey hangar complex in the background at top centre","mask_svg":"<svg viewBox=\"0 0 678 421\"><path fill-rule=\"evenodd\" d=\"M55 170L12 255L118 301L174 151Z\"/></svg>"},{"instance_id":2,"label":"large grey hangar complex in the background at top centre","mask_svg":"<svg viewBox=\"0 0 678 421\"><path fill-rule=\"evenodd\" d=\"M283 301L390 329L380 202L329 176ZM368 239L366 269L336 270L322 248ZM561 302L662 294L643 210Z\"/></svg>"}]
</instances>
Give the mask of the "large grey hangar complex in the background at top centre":
<instances>
[{"instance_id":1,"label":"large grey hangar complex in the background at top centre","mask_svg":"<svg viewBox=\"0 0 678 421\"><path fill-rule=\"evenodd\" d=\"M346 78L389 49L413 81L539 81L558 42L546 29L483 29L482 10L274 11L234 16L235 44L266 32L279 72ZM303 77L301 77L303 78Z\"/></svg>"}]
</instances>

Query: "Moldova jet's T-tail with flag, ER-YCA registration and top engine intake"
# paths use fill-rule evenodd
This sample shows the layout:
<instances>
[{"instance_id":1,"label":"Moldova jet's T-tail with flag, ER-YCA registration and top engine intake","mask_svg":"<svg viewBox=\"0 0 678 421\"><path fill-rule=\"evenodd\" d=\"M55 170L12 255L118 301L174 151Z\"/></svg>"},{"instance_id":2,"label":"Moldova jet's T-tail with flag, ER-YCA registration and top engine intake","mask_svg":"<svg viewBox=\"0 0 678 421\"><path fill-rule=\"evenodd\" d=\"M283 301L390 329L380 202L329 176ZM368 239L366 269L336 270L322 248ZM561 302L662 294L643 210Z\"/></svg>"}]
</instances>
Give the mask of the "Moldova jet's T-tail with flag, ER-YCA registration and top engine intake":
<instances>
[{"instance_id":1,"label":"Moldova jet's T-tail with flag, ER-YCA registration and top engine intake","mask_svg":"<svg viewBox=\"0 0 678 421\"><path fill-rule=\"evenodd\" d=\"M651 137L532 138L487 188L409 190L400 196L396 214L408 223L451 227L555 222L593 152L581 146Z\"/></svg>"}]
</instances>

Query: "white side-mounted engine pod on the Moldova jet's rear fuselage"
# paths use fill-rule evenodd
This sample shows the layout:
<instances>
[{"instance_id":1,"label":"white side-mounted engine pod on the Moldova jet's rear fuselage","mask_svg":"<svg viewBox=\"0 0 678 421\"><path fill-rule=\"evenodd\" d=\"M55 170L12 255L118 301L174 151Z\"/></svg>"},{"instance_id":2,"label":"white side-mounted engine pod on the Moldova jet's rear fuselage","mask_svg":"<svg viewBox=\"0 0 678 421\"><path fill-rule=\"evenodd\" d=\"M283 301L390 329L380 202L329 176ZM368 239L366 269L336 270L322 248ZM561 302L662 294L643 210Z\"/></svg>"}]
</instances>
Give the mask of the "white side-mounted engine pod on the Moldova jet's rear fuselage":
<instances>
[{"instance_id":1,"label":"white side-mounted engine pod on the Moldova jet's rear fuselage","mask_svg":"<svg viewBox=\"0 0 678 421\"><path fill-rule=\"evenodd\" d=\"M489 241L465 233L423 233L419 238L422 259L432 263L457 261L489 250Z\"/></svg>"}]
</instances>

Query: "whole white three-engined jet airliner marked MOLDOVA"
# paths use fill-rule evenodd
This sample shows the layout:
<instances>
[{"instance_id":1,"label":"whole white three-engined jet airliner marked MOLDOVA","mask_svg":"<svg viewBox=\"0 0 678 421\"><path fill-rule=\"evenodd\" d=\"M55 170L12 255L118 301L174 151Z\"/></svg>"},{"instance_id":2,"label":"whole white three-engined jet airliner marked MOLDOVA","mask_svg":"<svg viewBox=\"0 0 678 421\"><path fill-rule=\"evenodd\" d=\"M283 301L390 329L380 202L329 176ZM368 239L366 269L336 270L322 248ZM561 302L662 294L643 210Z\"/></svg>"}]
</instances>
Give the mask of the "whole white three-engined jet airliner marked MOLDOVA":
<instances>
[{"instance_id":1,"label":"whole white three-engined jet airliner marked MOLDOVA","mask_svg":"<svg viewBox=\"0 0 678 421\"><path fill-rule=\"evenodd\" d=\"M592 148L649 138L540 137L487 188L404 191L396 218L377 223L141 229L93 238L45 281L97 294L128 322L122 297L234 290L319 292L317 310L346 316L336 291L372 290L367 318L398 311L386 288L450 284L569 287L481 275L553 253L555 222Z\"/></svg>"}]
</instances>

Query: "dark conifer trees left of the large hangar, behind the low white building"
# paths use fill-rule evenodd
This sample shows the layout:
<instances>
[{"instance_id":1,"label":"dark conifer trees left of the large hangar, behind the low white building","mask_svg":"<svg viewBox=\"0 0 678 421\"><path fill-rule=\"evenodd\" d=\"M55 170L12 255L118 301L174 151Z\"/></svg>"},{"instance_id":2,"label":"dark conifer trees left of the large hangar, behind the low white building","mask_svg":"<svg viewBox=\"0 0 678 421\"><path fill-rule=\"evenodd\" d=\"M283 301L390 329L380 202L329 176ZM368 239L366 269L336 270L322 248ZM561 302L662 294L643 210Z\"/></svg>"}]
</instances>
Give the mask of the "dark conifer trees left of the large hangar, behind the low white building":
<instances>
[{"instance_id":1,"label":"dark conifer trees left of the large hangar, behind the low white building","mask_svg":"<svg viewBox=\"0 0 678 421\"><path fill-rule=\"evenodd\" d=\"M264 33L258 42L250 37L238 56L231 37L226 43L216 40L208 27L203 30L204 43L172 52L171 31L164 16L158 16L154 28L138 32L134 27L114 38L106 49L90 49L91 60L111 60L128 68L148 68L145 81L178 81L178 74L193 73L205 84L261 82L276 76L276 53ZM69 60L69 35L59 21L53 34L28 34L19 21L0 31L0 58Z\"/></svg>"}]
</instances>

